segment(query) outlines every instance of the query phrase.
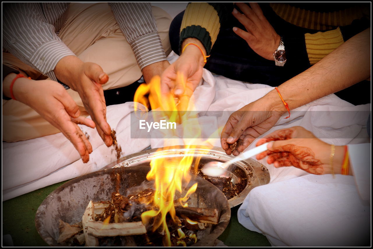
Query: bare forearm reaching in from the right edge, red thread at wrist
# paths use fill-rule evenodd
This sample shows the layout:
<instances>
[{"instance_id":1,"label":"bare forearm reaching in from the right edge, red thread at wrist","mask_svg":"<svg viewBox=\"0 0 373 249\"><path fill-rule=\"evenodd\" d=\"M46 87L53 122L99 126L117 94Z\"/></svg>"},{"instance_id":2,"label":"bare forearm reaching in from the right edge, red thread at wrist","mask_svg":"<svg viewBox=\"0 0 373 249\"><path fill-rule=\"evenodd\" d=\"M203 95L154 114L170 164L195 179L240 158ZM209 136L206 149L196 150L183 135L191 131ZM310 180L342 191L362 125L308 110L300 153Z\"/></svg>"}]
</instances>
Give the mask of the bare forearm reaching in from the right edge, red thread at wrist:
<instances>
[{"instance_id":1,"label":"bare forearm reaching in from the right edge, red thread at wrist","mask_svg":"<svg viewBox=\"0 0 373 249\"><path fill-rule=\"evenodd\" d=\"M294 109L369 77L370 28L355 35L314 66L280 85L278 89L289 108ZM283 105L275 89L269 92L265 99L275 101L272 102L275 108L281 108Z\"/></svg>"}]
</instances>

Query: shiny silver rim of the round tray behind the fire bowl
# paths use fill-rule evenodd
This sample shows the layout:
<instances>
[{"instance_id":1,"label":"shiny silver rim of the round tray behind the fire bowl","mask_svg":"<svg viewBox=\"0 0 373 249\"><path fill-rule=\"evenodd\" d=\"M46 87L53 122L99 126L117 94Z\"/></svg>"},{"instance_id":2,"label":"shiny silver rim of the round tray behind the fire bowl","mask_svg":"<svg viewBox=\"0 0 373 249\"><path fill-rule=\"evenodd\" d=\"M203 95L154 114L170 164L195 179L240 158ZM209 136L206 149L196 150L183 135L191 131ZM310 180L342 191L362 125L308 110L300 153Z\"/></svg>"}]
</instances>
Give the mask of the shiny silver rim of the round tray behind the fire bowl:
<instances>
[{"instance_id":1,"label":"shiny silver rim of the round tray behind the fire bowl","mask_svg":"<svg viewBox=\"0 0 373 249\"><path fill-rule=\"evenodd\" d=\"M200 163L208 163L210 161L226 162L233 158L232 155L225 154L222 148L213 147L212 149L197 148L190 152L186 146L175 146L171 149L149 149L140 151L116 160L108 164L104 168L130 167L130 166L149 166L151 159L156 156L156 152L162 152L162 157L184 157L185 155L193 155L194 161L196 157L201 157ZM159 155L159 154L158 154ZM269 183L270 176L268 169L261 163L251 158L235 163L236 167L242 170L247 177L247 185L241 193L228 200L230 207L235 207L244 202L245 197L251 189L257 186ZM241 176L236 175L238 178Z\"/></svg>"}]
</instances>

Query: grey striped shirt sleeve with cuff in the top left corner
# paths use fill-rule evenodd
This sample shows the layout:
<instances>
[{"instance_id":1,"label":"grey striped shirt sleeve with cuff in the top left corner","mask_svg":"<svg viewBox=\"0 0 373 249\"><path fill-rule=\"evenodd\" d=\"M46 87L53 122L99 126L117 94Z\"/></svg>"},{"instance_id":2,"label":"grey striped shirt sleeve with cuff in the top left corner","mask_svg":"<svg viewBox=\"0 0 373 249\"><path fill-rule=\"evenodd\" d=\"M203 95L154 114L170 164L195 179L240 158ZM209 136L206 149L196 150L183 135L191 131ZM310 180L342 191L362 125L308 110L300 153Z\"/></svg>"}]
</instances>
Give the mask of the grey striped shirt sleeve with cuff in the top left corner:
<instances>
[{"instance_id":1,"label":"grey striped shirt sleeve with cuff in the top left corner","mask_svg":"<svg viewBox=\"0 0 373 249\"><path fill-rule=\"evenodd\" d=\"M54 15L65 13L66 3L50 3ZM56 11L54 11L56 10ZM56 35L41 3L6 3L3 5L3 48L22 62L57 81L53 69L65 56L75 55ZM49 22L48 22L49 21Z\"/></svg>"}]
</instances>

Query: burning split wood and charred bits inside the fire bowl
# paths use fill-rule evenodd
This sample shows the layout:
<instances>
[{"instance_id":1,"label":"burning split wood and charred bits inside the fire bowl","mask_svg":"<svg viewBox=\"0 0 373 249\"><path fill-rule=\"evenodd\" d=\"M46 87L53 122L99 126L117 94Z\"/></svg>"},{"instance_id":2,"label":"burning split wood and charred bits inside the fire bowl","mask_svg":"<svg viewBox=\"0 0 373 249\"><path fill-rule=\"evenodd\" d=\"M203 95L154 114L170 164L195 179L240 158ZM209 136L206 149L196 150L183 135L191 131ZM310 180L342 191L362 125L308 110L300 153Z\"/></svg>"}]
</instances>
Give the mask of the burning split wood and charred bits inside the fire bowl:
<instances>
[{"instance_id":1,"label":"burning split wood and charred bits inside the fire bowl","mask_svg":"<svg viewBox=\"0 0 373 249\"><path fill-rule=\"evenodd\" d=\"M66 233L66 228L60 230L60 240L66 240L74 236L83 229L83 234L76 237L78 245L83 245L85 241L86 246L99 246L103 238L107 243L107 237L125 236L121 239L126 246L136 246L134 235L144 234L145 238L151 236L164 236L163 230L147 231L144 224L139 220L141 213L151 210L144 206L145 203L150 203L154 196L154 190L145 189L138 194L128 195L127 197L120 193L112 193L111 201L93 202L90 201L82 216L82 227L70 226L63 221L60 221L61 227L71 230ZM176 202L177 200L175 200ZM154 206L153 206L154 208ZM168 218L168 227L172 236L172 245L191 245L197 242L196 234L192 231L204 230L217 224L219 217L217 209L213 208L193 208L193 207L175 207L176 215L180 217L177 220ZM160 218L160 215L154 217L154 223ZM181 228L188 230L188 236L181 230ZM149 228L150 229L150 228ZM148 235L145 235L148 234ZM156 235L159 234L159 235ZM176 236L176 234L178 236ZM132 236L132 237L131 237ZM83 241L81 241L83 240ZM114 239L113 239L114 240ZM146 241L146 239L142 239ZM153 242L148 242L146 245L155 245Z\"/></svg>"}]
</instances>

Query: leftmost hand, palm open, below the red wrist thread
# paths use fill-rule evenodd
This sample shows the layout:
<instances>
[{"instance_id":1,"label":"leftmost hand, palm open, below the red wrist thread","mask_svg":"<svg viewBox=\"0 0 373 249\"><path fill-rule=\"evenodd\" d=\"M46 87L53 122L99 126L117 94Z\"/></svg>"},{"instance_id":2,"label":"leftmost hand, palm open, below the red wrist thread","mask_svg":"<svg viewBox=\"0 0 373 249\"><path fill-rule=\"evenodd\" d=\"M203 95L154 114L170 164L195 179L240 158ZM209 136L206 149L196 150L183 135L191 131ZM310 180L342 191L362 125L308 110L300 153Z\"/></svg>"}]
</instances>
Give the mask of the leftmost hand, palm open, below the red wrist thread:
<instances>
[{"instance_id":1,"label":"leftmost hand, palm open, below the red wrist thread","mask_svg":"<svg viewBox=\"0 0 373 249\"><path fill-rule=\"evenodd\" d=\"M15 74L13 74L13 78ZM13 87L18 101L29 105L41 117L59 129L79 152L83 163L89 161L92 146L77 124L94 128L95 123L80 116L78 105L60 83L51 80L31 81L19 78Z\"/></svg>"}]
</instances>

